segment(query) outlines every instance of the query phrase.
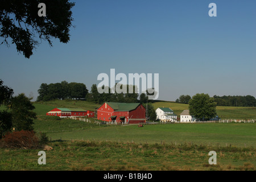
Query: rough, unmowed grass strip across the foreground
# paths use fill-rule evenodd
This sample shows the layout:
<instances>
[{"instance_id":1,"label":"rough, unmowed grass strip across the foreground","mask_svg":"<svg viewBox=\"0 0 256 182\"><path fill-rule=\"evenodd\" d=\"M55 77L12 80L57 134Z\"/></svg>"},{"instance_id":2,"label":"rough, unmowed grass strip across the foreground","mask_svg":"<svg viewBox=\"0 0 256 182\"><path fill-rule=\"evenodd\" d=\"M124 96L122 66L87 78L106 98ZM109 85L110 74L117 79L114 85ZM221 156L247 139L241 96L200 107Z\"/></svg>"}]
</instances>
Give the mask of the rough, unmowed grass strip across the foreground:
<instances>
[{"instance_id":1,"label":"rough, unmowed grass strip across the foreground","mask_svg":"<svg viewBox=\"0 0 256 182\"><path fill-rule=\"evenodd\" d=\"M187 171L255 170L255 148L196 144L137 144L132 142L52 142L46 165L39 165L39 150L0 148L0 170L26 171ZM209 165L209 151L217 165Z\"/></svg>"}]
</instances>

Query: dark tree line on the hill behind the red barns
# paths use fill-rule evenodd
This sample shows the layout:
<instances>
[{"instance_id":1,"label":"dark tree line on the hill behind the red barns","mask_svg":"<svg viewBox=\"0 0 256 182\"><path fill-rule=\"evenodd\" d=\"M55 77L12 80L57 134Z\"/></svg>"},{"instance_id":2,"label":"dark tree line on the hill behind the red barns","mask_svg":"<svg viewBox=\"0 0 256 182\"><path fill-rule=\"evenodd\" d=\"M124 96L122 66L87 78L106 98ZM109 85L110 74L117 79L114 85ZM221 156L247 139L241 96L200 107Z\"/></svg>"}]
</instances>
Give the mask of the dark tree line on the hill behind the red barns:
<instances>
[{"instance_id":1,"label":"dark tree line on the hill behind the red barns","mask_svg":"<svg viewBox=\"0 0 256 182\"><path fill-rule=\"evenodd\" d=\"M122 89L122 86L120 88ZM104 89L104 86L102 86ZM123 103L141 103L147 108L148 118L156 119L155 109L152 106L152 100L148 100L148 96L153 95L151 93L137 93L137 86L133 85L133 93L129 93L129 85L126 85L126 93L118 93L115 90L114 93L110 92L110 88L106 87L109 93L99 93L96 84L93 84L90 88L90 92L86 89L85 84L67 81L61 81L55 84L41 84L38 89L39 96L37 101L50 101L50 100L84 100L93 102L96 104L103 104L104 102L123 102Z\"/></svg>"}]
</instances>

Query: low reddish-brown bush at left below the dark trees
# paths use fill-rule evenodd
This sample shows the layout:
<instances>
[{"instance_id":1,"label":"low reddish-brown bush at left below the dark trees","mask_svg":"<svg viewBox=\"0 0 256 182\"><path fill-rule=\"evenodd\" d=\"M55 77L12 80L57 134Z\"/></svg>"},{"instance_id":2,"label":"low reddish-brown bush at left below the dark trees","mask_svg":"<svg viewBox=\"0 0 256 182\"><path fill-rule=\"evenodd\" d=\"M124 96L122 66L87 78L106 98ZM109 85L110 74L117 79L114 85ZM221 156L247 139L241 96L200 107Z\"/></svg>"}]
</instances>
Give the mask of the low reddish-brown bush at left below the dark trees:
<instances>
[{"instance_id":1,"label":"low reddish-brown bush at left below the dark trees","mask_svg":"<svg viewBox=\"0 0 256 182\"><path fill-rule=\"evenodd\" d=\"M2 139L3 147L6 148L38 148L39 142L34 131L14 131L7 133Z\"/></svg>"}]
</instances>

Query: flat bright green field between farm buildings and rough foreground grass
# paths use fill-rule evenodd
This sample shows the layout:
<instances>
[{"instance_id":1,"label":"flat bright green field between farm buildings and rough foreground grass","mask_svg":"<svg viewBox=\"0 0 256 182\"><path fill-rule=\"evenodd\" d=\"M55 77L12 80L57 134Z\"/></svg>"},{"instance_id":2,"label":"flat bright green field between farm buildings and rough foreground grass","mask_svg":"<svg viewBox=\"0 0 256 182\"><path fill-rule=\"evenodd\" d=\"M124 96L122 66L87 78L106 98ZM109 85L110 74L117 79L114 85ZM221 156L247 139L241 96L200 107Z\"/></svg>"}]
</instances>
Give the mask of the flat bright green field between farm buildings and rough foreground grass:
<instances>
[{"instance_id":1,"label":"flat bright green field between farm buildings and rough foreground grass","mask_svg":"<svg viewBox=\"0 0 256 182\"><path fill-rule=\"evenodd\" d=\"M80 121L75 121L80 123ZM43 122L41 123L43 125ZM81 121L81 125L90 125ZM65 124L67 125L67 123ZM51 132L52 140L95 140L135 143L194 143L214 146L256 147L256 123L175 123L166 125L77 127ZM40 131L40 127L37 124Z\"/></svg>"}]
</instances>

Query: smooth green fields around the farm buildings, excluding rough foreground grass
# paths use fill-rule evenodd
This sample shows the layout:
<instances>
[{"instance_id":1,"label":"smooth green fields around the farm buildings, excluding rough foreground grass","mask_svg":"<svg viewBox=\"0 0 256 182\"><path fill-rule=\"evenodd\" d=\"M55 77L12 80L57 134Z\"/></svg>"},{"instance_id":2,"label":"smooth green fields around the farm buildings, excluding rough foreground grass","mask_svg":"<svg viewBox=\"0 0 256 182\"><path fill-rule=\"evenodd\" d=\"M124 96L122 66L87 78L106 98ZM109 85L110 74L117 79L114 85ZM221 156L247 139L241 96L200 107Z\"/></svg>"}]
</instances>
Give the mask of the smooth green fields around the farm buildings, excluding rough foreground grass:
<instances>
[{"instance_id":1,"label":"smooth green fields around the farm buildings, excluding rough foreground grass","mask_svg":"<svg viewBox=\"0 0 256 182\"><path fill-rule=\"evenodd\" d=\"M35 103L38 119L35 131L47 133L52 140L97 140L138 143L183 143L220 144L221 146L256 146L256 123L175 123L167 125L107 126L46 117L46 113L55 107L81 107L93 109L97 104L86 101L49 101ZM154 107L171 107L175 113L188 109L187 104L174 102L155 102ZM255 107L218 107L218 113L226 118L230 115L245 116L250 114L256 119ZM230 117L232 118L232 117ZM234 117L236 118L236 117ZM238 119L238 118L237 118Z\"/></svg>"}]
</instances>

